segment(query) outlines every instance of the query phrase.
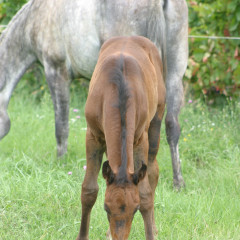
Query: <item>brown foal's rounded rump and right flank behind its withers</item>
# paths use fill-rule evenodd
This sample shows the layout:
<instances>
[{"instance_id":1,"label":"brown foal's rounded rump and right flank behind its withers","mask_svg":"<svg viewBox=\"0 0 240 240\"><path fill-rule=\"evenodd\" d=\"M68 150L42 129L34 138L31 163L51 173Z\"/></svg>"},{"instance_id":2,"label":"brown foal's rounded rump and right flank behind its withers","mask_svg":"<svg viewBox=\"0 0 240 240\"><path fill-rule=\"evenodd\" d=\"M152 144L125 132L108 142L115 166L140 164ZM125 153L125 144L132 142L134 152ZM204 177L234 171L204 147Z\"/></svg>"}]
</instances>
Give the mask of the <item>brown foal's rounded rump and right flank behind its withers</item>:
<instances>
[{"instance_id":1,"label":"brown foal's rounded rump and right flank behind its withers","mask_svg":"<svg viewBox=\"0 0 240 240\"><path fill-rule=\"evenodd\" d=\"M141 105L143 101L148 102L145 110L153 117L157 105L164 102L165 97L164 70L159 50L145 37L113 37L103 44L98 64L113 56L123 61L124 76L130 91L137 98L134 101L139 106L144 105Z\"/></svg>"}]
</instances>

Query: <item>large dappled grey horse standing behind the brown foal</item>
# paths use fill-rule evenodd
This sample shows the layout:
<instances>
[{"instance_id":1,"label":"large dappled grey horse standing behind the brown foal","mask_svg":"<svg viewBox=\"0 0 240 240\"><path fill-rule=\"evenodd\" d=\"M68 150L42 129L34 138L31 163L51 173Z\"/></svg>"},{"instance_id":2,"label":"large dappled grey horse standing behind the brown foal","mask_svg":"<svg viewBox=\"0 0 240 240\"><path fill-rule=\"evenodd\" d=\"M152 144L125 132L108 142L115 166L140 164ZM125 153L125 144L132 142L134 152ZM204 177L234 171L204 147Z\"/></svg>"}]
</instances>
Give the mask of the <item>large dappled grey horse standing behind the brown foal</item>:
<instances>
[{"instance_id":1,"label":"large dappled grey horse standing behind the brown foal","mask_svg":"<svg viewBox=\"0 0 240 240\"><path fill-rule=\"evenodd\" d=\"M57 155L65 154L71 79L91 78L104 41L132 35L155 43L163 68L168 69L166 133L174 185L184 185L178 114L188 58L185 0L29 0L0 37L0 139L10 129L7 107L11 94L24 72L39 61L54 103Z\"/></svg>"}]
</instances>

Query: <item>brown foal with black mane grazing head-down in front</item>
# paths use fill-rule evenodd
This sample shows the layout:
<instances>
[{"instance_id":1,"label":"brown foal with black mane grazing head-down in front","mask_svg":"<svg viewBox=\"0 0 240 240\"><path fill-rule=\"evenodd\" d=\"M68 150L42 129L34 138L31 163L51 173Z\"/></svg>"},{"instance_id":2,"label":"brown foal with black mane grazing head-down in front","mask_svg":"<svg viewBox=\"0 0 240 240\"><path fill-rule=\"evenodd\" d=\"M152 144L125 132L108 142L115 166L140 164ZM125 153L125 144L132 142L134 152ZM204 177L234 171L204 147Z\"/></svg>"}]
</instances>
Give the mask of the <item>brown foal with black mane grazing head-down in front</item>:
<instances>
[{"instance_id":1,"label":"brown foal with black mane grazing head-down in front","mask_svg":"<svg viewBox=\"0 0 240 240\"><path fill-rule=\"evenodd\" d=\"M158 182L156 155L165 109L163 65L144 37L114 37L103 44L86 102L87 169L82 184L78 236L88 239L97 178L107 182L104 208L114 240L126 240L139 209L146 239L154 239L153 199Z\"/></svg>"}]
</instances>

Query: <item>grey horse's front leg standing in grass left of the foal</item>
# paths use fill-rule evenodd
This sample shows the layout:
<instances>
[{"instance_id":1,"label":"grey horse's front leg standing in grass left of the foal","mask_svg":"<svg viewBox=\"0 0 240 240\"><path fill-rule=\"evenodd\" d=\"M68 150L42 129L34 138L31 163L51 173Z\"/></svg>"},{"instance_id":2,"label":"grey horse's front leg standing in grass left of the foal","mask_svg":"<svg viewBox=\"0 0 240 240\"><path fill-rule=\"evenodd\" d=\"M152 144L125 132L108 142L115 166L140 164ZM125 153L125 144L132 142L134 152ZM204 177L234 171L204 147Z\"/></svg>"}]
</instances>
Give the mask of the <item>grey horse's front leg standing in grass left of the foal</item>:
<instances>
[{"instance_id":1,"label":"grey horse's front leg standing in grass left of the foal","mask_svg":"<svg viewBox=\"0 0 240 240\"><path fill-rule=\"evenodd\" d=\"M69 133L69 73L61 63L45 62L44 69L54 104L57 156L61 157L67 152Z\"/></svg>"}]
</instances>

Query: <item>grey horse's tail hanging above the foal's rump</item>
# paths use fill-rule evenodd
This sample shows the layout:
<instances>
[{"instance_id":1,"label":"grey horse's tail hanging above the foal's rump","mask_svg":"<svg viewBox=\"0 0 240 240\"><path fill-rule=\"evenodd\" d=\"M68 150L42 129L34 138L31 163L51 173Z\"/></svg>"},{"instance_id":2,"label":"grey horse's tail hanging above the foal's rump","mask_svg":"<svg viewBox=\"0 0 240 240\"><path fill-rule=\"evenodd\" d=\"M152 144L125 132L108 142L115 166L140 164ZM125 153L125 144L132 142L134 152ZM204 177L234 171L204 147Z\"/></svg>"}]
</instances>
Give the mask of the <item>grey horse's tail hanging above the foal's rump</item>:
<instances>
[{"instance_id":1,"label":"grey horse's tail hanging above the foal's rump","mask_svg":"<svg viewBox=\"0 0 240 240\"><path fill-rule=\"evenodd\" d=\"M147 37L160 50L163 63L163 77L167 75L167 55L166 55L166 22L163 8L166 7L167 0L153 0L149 8L149 20L147 27Z\"/></svg>"}]
</instances>

